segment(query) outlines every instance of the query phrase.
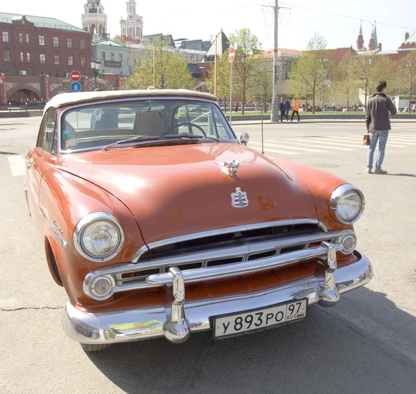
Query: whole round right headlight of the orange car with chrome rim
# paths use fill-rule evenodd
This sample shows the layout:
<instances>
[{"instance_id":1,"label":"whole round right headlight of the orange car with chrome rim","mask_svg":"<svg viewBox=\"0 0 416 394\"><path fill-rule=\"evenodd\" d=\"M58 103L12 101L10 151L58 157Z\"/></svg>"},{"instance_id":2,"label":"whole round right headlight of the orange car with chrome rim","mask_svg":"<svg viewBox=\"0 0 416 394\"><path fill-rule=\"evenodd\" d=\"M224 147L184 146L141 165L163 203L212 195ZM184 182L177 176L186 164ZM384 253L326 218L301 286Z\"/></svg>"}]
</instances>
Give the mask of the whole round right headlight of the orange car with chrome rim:
<instances>
[{"instance_id":1,"label":"whole round right headlight of the orange car with chrome rim","mask_svg":"<svg viewBox=\"0 0 416 394\"><path fill-rule=\"evenodd\" d=\"M342 185L333 191L330 208L335 213L338 222L352 224L364 211L363 193L352 185Z\"/></svg>"}]
</instances>

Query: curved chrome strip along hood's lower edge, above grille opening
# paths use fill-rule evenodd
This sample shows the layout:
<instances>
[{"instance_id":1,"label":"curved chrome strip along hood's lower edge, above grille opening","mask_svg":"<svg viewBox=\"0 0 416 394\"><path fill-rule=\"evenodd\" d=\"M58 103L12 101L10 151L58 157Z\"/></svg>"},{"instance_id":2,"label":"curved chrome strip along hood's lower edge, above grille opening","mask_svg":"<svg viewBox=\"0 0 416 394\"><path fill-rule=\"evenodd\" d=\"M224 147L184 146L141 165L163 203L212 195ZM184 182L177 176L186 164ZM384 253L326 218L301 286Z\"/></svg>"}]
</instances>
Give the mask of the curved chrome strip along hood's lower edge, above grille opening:
<instances>
[{"instance_id":1,"label":"curved chrome strip along hood's lower edge, above grille opening","mask_svg":"<svg viewBox=\"0 0 416 394\"><path fill-rule=\"evenodd\" d=\"M316 219L293 219L293 220L278 220L275 222L264 222L264 223L255 223L255 224L245 224L243 226L235 226L235 227L226 227L225 229L216 229L216 230L209 230L209 231L202 231L200 233L192 233L187 235L180 235L179 237L168 238L166 240L160 240L156 242L152 242L148 244L148 249L156 249L158 247L164 247L168 244L175 244L177 242L184 242L188 240L196 240L198 238L205 238L211 237L213 235L223 235L228 233L236 233L239 231L250 231L250 230L257 230L257 229L267 229L269 227L281 227L281 226L293 226L295 224L319 224L319 221ZM141 247L143 249L144 247ZM141 250L139 249L139 251ZM132 262L138 262L139 258L137 258L137 254L139 251L135 253L135 258L133 258ZM142 253L141 253L142 254ZM139 254L139 257L141 256Z\"/></svg>"}]
</instances>

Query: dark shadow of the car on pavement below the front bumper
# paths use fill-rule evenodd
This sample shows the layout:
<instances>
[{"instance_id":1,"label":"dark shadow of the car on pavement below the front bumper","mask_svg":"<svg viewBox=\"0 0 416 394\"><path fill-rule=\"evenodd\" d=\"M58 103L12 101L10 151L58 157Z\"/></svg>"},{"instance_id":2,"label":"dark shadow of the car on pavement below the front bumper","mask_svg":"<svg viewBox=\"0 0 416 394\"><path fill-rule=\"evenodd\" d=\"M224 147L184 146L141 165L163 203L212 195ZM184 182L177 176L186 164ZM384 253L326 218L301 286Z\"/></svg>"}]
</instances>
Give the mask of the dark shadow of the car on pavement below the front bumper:
<instances>
[{"instance_id":1,"label":"dark shadow of the car on pavement below the front bumper","mask_svg":"<svg viewBox=\"0 0 416 394\"><path fill-rule=\"evenodd\" d=\"M395 340L415 337L415 317L383 293L353 293L333 308L311 307L305 321L245 337L202 332L181 345L121 343L88 356L126 393L413 393L416 352L408 358Z\"/></svg>"}]
</instances>

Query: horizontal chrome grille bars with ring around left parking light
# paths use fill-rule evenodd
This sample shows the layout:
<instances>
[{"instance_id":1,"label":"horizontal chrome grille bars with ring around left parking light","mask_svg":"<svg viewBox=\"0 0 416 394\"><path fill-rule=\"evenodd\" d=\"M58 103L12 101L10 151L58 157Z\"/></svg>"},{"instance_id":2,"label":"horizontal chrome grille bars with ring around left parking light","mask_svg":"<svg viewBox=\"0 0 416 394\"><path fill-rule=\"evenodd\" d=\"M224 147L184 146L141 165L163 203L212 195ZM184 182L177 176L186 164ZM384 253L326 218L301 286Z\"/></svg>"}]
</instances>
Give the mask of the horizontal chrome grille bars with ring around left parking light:
<instances>
[{"instance_id":1,"label":"horizontal chrome grille bars with ring around left parking light","mask_svg":"<svg viewBox=\"0 0 416 394\"><path fill-rule=\"evenodd\" d=\"M327 253L327 248L314 247L309 249L301 249L299 251L293 251L283 254L276 254L267 258L259 258L257 260L246 260L247 253L261 253L270 249L279 250L282 247L293 246L296 244L306 244L309 246L311 242L322 242L324 240L337 240L335 242L336 251L340 251L343 244L340 242L344 236L352 234L352 230L331 231L330 233L315 233L311 235L302 235L297 238L286 238L284 240L271 240L267 242L252 242L252 244L242 245L234 248L219 248L214 251L205 251L202 253L188 253L184 256L176 256L176 258L170 259L158 259L150 260L143 263L125 263L110 265L96 269L89 272L85 276L83 289L85 294L92 299L102 301L109 298L116 292L128 292L137 289L146 289L150 287L161 287L169 285L172 281L172 276L169 273L161 273L161 267L176 267L189 262L217 260L223 257L242 257L243 261L230 263L227 265L220 265L214 267L206 267L202 265L202 268L189 269L182 271L185 283L193 283L201 280L215 280L218 278L231 278L234 276L241 276L245 274L251 274L253 272L264 271L268 269L274 269L276 267L284 267L286 265L293 265L297 262L310 260L311 258L321 258ZM263 246L263 249L262 249ZM227 253L230 250L230 254ZM235 254L236 253L236 254ZM198 256L198 258L196 258ZM122 278L123 274L132 272L140 272L147 269L159 269L159 274L153 274L146 278L146 275L142 275L140 278ZM113 292L105 298L96 298L90 288L95 278L98 276L107 276L113 280L114 288ZM145 280L143 280L145 278Z\"/></svg>"}]
</instances>

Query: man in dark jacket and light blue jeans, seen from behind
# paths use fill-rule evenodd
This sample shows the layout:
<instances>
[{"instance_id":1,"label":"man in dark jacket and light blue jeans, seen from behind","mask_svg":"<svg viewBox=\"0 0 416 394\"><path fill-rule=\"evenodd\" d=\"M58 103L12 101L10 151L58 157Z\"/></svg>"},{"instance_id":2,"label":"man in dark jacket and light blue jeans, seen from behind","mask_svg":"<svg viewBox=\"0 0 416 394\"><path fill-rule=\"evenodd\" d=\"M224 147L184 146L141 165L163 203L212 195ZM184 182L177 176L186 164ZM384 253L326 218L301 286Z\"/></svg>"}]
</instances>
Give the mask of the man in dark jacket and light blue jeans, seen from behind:
<instances>
[{"instance_id":1,"label":"man in dark jacket and light blue jeans, seen from behind","mask_svg":"<svg viewBox=\"0 0 416 394\"><path fill-rule=\"evenodd\" d=\"M392 100L385 96L387 82L380 81L376 84L377 93L374 94L367 104L365 125L367 133L370 134L370 147L367 154L367 174L372 174L372 164L377 141L379 141L379 154L376 160L375 174L387 174L387 171L381 169L384 160L385 144L387 143L388 132L390 127L389 112L392 115L397 113Z\"/></svg>"}]
</instances>

